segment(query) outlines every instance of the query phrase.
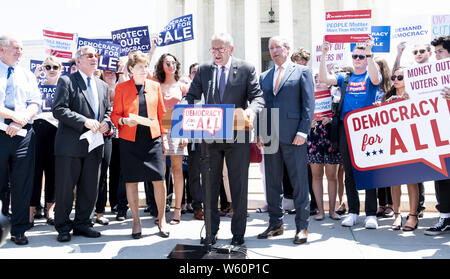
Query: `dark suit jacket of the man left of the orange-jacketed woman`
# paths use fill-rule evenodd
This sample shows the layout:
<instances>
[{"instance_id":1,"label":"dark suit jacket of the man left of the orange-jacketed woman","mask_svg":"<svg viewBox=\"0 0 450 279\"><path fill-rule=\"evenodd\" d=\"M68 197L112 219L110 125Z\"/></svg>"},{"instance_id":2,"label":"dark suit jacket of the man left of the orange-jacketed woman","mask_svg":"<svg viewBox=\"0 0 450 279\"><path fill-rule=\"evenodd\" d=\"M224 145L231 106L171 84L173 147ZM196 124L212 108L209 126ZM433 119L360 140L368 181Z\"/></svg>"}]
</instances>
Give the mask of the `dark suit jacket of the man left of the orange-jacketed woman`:
<instances>
[{"instance_id":1,"label":"dark suit jacket of the man left of the orange-jacketed woman","mask_svg":"<svg viewBox=\"0 0 450 279\"><path fill-rule=\"evenodd\" d=\"M112 127L109 118L111 105L109 101L108 85L94 78L99 103L99 122L106 121ZM62 76L56 86L55 99L53 101L53 116L59 120L55 137L55 155L84 157L88 153L87 140L80 140L81 134L88 131L84 122L95 119L87 86L76 72L69 76Z\"/></svg>"}]
</instances>

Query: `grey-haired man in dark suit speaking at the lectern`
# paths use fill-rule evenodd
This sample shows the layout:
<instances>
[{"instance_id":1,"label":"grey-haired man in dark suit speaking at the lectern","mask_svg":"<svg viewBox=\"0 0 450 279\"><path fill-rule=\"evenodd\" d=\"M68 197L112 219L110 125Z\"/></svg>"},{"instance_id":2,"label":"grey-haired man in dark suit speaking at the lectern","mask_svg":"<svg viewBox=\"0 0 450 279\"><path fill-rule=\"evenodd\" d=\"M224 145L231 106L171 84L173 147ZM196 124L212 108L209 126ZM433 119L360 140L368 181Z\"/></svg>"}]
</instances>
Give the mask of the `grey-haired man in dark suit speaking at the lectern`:
<instances>
[{"instance_id":1,"label":"grey-haired man in dark suit speaking at the lectern","mask_svg":"<svg viewBox=\"0 0 450 279\"><path fill-rule=\"evenodd\" d=\"M232 57L233 50L233 39L230 35L218 34L212 37L210 51L213 61L200 65L183 102L193 104L194 100L200 99L203 94L209 104L234 104L235 108L244 109L249 122L253 123L256 114L264 106L264 99L254 66ZM217 75L214 77L212 77L213 67L218 67ZM208 82L211 79L217 80L217 86L216 91L208 98L206 94ZM248 133L246 134L246 140L235 138L232 143L208 144L211 163L209 185L212 197L210 208L213 244L220 223L217 204L224 158L228 167L234 213L231 220L231 232L233 233L231 244L237 246L244 243L247 224L248 168L250 165L250 143Z\"/></svg>"}]
</instances>

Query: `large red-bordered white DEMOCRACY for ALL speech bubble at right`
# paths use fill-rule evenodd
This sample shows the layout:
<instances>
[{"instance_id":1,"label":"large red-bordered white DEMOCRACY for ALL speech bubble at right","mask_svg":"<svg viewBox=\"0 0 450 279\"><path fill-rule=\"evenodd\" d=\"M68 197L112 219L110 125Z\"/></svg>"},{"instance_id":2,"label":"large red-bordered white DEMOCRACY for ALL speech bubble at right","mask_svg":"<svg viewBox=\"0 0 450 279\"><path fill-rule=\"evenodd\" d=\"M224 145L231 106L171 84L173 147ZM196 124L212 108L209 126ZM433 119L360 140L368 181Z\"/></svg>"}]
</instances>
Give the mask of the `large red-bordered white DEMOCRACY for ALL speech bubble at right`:
<instances>
[{"instance_id":1,"label":"large red-bordered white DEMOCRACY for ALL speech bubble at right","mask_svg":"<svg viewBox=\"0 0 450 279\"><path fill-rule=\"evenodd\" d=\"M347 114L353 166L359 171L424 163L448 176L449 104L434 92Z\"/></svg>"}]
</instances>

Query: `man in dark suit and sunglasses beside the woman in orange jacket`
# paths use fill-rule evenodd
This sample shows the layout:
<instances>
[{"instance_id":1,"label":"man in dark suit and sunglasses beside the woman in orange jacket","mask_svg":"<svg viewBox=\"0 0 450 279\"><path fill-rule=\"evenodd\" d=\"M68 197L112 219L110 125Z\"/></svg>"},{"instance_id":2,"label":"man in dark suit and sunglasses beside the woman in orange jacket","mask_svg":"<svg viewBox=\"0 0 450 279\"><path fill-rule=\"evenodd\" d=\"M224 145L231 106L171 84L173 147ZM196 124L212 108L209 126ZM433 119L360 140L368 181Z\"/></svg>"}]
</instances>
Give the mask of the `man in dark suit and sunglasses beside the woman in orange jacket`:
<instances>
[{"instance_id":1,"label":"man in dark suit and sunglasses beside the woman in orange jacket","mask_svg":"<svg viewBox=\"0 0 450 279\"><path fill-rule=\"evenodd\" d=\"M74 235L100 237L90 228L90 215L97 198L103 145L88 152L87 140L80 140L89 130L103 134L112 125L108 85L93 75L97 59L93 47L78 49L78 71L62 76L56 87L53 116L59 120L59 126L55 138L55 228L60 242L70 241L72 229ZM75 185L75 219L71 221Z\"/></svg>"}]
</instances>

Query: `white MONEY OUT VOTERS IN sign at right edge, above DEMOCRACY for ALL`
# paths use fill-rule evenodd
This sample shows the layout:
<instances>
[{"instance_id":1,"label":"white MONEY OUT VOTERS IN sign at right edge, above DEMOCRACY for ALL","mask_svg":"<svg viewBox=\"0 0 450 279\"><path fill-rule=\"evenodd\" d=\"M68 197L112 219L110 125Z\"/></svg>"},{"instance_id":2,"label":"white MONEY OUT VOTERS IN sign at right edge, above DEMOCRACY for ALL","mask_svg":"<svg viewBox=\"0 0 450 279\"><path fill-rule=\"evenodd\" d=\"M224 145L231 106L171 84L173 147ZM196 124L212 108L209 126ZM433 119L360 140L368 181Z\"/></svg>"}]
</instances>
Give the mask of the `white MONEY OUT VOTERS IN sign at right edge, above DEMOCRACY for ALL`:
<instances>
[{"instance_id":1,"label":"white MONEY OUT VOTERS IN sign at right edge, above DEMOCRACY for ALL","mask_svg":"<svg viewBox=\"0 0 450 279\"><path fill-rule=\"evenodd\" d=\"M417 98L450 87L450 58L414 65L403 70L405 90Z\"/></svg>"}]
</instances>

